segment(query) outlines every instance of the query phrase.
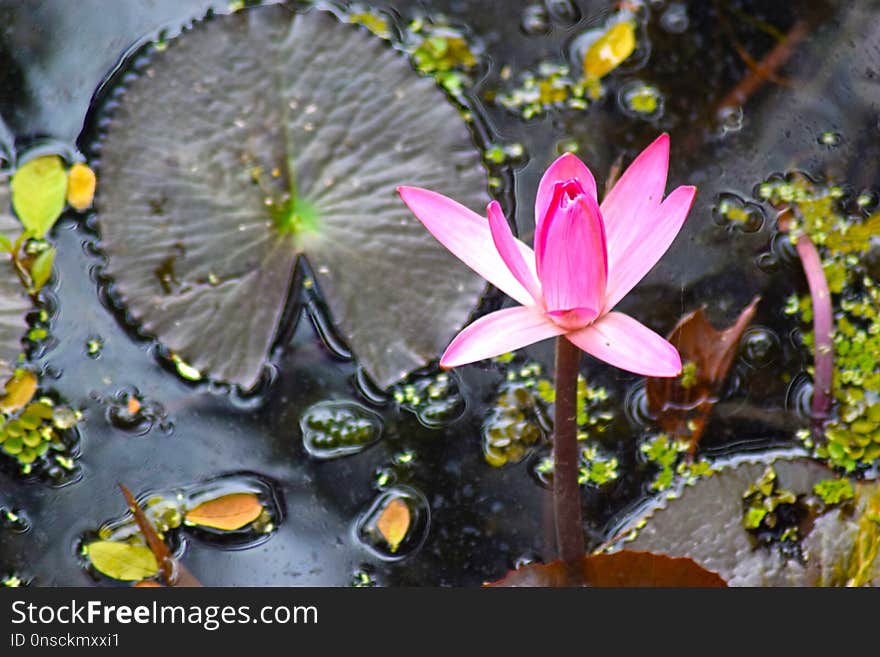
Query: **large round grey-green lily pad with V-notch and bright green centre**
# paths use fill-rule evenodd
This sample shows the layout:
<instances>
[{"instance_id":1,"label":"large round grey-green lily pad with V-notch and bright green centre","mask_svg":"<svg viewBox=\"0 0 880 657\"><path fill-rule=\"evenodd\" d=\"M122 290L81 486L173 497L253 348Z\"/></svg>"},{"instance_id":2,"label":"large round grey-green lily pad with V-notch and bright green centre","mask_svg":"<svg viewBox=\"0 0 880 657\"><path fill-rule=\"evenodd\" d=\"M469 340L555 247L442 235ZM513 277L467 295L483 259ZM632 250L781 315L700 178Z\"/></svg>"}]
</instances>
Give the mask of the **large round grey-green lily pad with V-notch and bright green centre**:
<instances>
[{"instance_id":1,"label":"large round grey-green lily pad with V-notch and bright green centre","mask_svg":"<svg viewBox=\"0 0 880 657\"><path fill-rule=\"evenodd\" d=\"M381 387L436 358L485 284L398 185L480 211L486 173L433 80L332 14L258 7L153 54L106 123L96 202L115 291L196 370L252 387L305 255Z\"/></svg>"}]
</instances>

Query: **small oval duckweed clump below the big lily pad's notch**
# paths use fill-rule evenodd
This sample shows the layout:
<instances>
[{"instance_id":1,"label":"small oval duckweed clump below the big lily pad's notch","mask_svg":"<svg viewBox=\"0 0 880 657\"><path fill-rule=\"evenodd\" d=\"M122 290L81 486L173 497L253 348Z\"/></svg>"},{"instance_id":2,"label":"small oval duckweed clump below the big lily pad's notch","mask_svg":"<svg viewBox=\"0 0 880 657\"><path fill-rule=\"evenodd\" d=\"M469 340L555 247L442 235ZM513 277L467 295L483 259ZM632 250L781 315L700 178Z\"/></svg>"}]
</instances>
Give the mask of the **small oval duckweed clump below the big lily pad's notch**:
<instances>
[{"instance_id":1,"label":"small oval duckweed clump below the big lily pad's notch","mask_svg":"<svg viewBox=\"0 0 880 657\"><path fill-rule=\"evenodd\" d=\"M319 459L357 454L382 435L381 418L348 401L323 401L309 406L299 426L306 451Z\"/></svg>"}]
</instances>

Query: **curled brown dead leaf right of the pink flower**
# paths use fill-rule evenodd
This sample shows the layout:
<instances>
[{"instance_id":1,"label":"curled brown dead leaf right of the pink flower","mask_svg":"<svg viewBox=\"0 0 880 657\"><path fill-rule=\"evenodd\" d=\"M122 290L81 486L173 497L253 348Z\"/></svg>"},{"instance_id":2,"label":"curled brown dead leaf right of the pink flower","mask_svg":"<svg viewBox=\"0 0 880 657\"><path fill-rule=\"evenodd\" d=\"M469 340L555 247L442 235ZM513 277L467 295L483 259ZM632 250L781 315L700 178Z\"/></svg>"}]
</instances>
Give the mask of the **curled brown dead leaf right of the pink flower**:
<instances>
[{"instance_id":1,"label":"curled brown dead leaf right of the pink flower","mask_svg":"<svg viewBox=\"0 0 880 657\"><path fill-rule=\"evenodd\" d=\"M681 354L684 374L647 380L645 391L651 415L663 431L690 440L691 453L706 428L739 340L755 316L760 300L761 297L752 299L736 322L722 331L712 326L702 308L682 317L668 339Z\"/></svg>"}]
</instances>

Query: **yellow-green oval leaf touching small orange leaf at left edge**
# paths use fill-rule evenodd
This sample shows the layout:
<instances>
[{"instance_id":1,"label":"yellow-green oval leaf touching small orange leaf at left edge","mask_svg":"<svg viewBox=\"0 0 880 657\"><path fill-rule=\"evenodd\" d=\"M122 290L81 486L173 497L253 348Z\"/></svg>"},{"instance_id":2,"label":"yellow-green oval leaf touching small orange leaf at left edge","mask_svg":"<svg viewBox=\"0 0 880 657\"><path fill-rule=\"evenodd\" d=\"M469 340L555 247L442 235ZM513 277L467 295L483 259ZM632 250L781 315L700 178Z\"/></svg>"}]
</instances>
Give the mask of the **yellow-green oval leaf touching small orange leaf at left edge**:
<instances>
[{"instance_id":1,"label":"yellow-green oval leaf touching small orange leaf at left edge","mask_svg":"<svg viewBox=\"0 0 880 657\"><path fill-rule=\"evenodd\" d=\"M57 155L29 160L12 176L12 207L33 237L43 238L64 211L67 172Z\"/></svg>"}]
</instances>

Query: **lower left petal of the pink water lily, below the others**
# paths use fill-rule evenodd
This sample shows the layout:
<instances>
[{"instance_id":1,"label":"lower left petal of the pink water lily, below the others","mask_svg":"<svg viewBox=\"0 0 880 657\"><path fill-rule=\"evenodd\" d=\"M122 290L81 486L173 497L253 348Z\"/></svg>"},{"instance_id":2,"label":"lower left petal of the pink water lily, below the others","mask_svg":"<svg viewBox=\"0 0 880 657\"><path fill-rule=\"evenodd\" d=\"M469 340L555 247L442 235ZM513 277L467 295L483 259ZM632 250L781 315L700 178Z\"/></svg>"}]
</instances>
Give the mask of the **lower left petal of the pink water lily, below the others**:
<instances>
[{"instance_id":1,"label":"lower left petal of the pink water lily, below the others","mask_svg":"<svg viewBox=\"0 0 880 657\"><path fill-rule=\"evenodd\" d=\"M505 308L481 317L455 336L440 359L440 367L466 365L506 354L565 333L536 306Z\"/></svg>"}]
</instances>

